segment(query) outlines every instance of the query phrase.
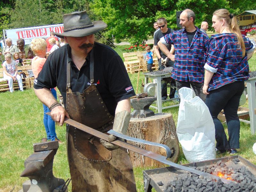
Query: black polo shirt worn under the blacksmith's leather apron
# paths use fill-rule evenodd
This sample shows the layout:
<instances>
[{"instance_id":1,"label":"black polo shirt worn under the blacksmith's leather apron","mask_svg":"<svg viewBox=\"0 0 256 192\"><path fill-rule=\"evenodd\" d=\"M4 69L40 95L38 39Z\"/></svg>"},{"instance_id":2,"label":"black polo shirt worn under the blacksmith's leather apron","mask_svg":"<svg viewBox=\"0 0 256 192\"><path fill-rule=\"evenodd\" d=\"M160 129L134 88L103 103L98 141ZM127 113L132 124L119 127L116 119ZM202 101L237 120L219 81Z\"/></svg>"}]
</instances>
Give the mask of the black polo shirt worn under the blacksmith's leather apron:
<instances>
[{"instance_id":1,"label":"black polo shirt worn under the blacksmith's leather apron","mask_svg":"<svg viewBox=\"0 0 256 192\"><path fill-rule=\"evenodd\" d=\"M94 84L111 115L115 115L118 101L135 95L124 62L110 47L94 43ZM91 52L90 52L91 53ZM58 87L66 106L67 57L71 61L71 90L82 93L90 86L90 53L80 71L71 59L71 48L66 44L49 55L35 79L34 88Z\"/></svg>"}]
</instances>

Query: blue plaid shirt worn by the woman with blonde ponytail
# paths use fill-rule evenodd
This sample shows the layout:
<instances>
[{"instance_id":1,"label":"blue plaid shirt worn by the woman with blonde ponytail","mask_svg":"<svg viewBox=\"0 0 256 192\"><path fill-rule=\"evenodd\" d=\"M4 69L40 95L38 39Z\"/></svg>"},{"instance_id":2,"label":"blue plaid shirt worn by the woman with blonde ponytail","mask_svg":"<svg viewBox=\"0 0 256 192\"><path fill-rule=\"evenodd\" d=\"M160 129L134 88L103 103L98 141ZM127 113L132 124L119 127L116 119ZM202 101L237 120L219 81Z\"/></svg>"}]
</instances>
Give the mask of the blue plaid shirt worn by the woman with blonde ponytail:
<instances>
[{"instance_id":1,"label":"blue plaid shirt worn by the woman with blonde ponytail","mask_svg":"<svg viewBox=\"0 0 256 192\"><path fill-rule=\"evenodd\" d=\"M251 41L244 37L245 51L253 48ZM249 78L247 54L242 58L242 49L237 44L234 33L213 35L207 49L207 62L204 68L213 72L208 91L217 89L234 81Z\"/></svg>"}]
</instances>

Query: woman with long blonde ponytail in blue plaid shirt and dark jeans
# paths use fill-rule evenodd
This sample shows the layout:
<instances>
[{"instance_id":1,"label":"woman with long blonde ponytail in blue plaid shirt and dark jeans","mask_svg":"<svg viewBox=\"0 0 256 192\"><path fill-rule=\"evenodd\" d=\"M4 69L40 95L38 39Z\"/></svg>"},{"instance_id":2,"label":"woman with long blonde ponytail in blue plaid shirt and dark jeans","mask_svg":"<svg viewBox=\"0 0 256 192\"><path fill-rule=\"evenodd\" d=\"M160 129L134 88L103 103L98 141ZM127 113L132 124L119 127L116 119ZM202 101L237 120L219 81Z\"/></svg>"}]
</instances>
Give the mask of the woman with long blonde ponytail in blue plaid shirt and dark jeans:
<instances>
[{"instance_id":1,"label":"woman with long blonde ponytail in blue plaid shirt and dark jeans","mask_svg":"<svg viewBox=\"0 0 256 192\"><path fill-rule=\"evenodd\" d=\"M240 137L237 109L244 81L249 78L247 60L251 58L255 45L241 35L236 17L226 9L213 13L212 27L219 34L210 38L207 48L203 87L204 94L207 94L205 104L215 125L216 151L235 154ZM218 119L222 109L228 125L228 140Z\"/></svg>"}]
</instances>

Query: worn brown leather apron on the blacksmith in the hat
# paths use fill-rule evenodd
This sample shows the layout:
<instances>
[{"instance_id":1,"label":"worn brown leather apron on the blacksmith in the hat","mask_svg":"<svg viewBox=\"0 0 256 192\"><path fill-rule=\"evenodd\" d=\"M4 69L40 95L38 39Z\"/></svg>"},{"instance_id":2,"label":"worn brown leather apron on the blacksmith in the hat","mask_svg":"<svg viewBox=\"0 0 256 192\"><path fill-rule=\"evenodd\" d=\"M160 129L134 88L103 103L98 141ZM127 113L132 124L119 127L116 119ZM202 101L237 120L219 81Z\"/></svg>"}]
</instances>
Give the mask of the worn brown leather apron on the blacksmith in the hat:
<instances>
[{"instance_id":1,"label":"worn brown leather apron on the blacksmith in the hat","mask_svg":"<svg viewBox=\"0 0 256 192\"><path fill-rule=\"evenodd\" d=\"M108 112L94 85L93 50L90 55L91 85L83 93L72 92L70 63L67 61L66 111L71 119L107 132L113 127L114 116ZM68 124L66 137L72 192L136 191L132 163L126 149L109 151L101 145L99 138Z\"/></svg>"}]
</instances>

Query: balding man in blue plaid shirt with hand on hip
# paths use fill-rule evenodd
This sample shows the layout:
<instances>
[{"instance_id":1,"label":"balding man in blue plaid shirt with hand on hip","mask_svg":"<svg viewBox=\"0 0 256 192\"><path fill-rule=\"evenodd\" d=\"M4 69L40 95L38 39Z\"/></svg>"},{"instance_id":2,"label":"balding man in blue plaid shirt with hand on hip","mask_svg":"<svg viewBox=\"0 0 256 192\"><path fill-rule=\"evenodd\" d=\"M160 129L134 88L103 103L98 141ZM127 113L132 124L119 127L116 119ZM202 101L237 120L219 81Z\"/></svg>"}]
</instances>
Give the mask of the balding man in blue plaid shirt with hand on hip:
<instances>
[{"instance_id":1,"label":"balding man in blue plaid shirt with hand on hip","mask_svg":"<svg viewBox=\"0 0 256 192\"><path fill-rule=\"evenodd\" d=\"M158 47L174 61L172 78L176 80L177 90L192 86L196 96L205 101L202 87L204 85L204 52L206 52L209 37L194 25L195 13L185 9L180 14L180 24L183 29L167 34L160 39ZM174 44L175 55L170 54L166 45Z\"/></svg>"}]
</instances>

